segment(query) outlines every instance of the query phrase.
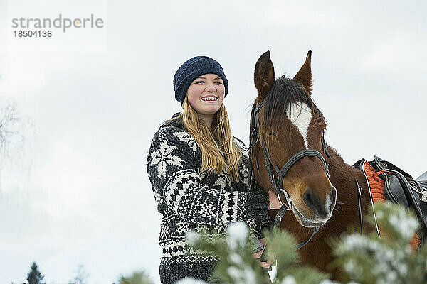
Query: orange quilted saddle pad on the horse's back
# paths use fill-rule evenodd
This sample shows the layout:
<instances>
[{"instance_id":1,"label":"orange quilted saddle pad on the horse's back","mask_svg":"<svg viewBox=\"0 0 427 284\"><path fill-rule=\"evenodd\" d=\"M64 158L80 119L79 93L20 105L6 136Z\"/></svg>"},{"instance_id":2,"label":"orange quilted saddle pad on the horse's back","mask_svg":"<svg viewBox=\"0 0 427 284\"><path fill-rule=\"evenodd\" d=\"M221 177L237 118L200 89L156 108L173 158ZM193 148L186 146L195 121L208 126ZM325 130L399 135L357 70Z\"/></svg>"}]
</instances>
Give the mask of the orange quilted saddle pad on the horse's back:
<instances>
[{"instance_id":1,"label":"orange quilted saddle pad on the horse's back","mask_svg":"<svg viewBox=\"0 0 427 284\"><path fill-rule=\"evenodd\" d=\"M369 163L364 163L364 172L367 176L367 181L369 183L369 188L371 189L371 197L374 202L384 202L386 201L386 197L384 195L384 180L378 178L380 172L375 172L374 167L372 167ZM381 232L381 226L378 224L379 234L380 236L384 233ZM421 238L418 234L414 234L411 239L411 247L412 249L418 249L419 244L421 244Z\"/></svg>"}]
</instances>

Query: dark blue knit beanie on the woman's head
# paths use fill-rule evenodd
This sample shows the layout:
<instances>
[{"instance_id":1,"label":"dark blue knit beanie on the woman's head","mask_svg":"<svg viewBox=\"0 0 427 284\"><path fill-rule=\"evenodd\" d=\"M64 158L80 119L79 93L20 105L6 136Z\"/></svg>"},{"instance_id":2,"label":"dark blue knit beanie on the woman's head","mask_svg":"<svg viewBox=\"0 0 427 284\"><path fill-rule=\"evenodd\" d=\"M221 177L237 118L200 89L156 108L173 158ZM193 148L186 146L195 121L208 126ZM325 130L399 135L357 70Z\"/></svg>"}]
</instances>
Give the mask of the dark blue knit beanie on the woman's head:
<instances>
[{"instance_id":1,"label":"dark blue knit beanie on the woman's head","mask_svg":"<svg viewBox=\"0 0 427 284\"><path fill-rule=\"evenodd\" d=\"M216 74L223 80L226 93L228 93L228 81L224 74L224 70L216 60L207 56L196 56L186 60L186 62L179 67L174 76L174 91L175 99L182 104L186 96L186 91L189 89L191 82L196 80L204 74Z\"/></svg>"}]
</instances>

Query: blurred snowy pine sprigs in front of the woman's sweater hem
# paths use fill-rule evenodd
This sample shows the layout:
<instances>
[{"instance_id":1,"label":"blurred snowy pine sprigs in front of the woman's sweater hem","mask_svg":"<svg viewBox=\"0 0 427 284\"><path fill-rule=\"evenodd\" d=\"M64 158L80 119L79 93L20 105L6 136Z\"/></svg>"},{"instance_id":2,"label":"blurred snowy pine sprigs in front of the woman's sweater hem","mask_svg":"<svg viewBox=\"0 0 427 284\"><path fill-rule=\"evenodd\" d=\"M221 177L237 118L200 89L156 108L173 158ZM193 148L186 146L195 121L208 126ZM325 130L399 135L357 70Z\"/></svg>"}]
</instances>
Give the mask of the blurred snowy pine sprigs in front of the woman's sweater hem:
<instances>
[{"instance_id":1,"label":"blurred snowy pine sprigs in front of the woman's sweater hem","mask_svg":"<svg viewBox=\"0 0 427 284\"><path fill-rule=\"evenodd\" d=\"M251 256L251 248L248 240L248 226L243 222L230 224L227 229L226 239L204 239L194 231L187 234L187 240L194 249L201 249L219 256L213 278L219 283L246 284L271 283L268 272L261 268L258 261ZM268 231L265 231L268 235ZM298 265L298 254L296 251L297 241L285 231L278 231L275 239L270 244L270 258L277 256L277 275L273 283L327 283L327 274L321 273L314 268L301 267ZM277 253L280 251L280 253ZM324 281L324 282L322 282ZM204 283L197 280L191 282L184 279L179 282Z\"/></svg>"}]
</instances>

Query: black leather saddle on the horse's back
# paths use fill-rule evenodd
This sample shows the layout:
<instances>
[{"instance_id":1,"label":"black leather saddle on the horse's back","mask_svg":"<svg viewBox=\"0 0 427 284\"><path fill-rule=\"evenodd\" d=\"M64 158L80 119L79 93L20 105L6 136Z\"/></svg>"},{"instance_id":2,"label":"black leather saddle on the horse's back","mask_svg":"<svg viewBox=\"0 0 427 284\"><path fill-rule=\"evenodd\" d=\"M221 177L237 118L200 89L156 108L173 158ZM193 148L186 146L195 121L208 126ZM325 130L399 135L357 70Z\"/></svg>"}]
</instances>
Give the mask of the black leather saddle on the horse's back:
<instances>
[{"instance_id":1,"label":"black leather saddle on the horse's back","mask_svg":"<svg viewBox=\"0 0 427 284\"><path fill-rule=\"evenodd\" d=\"M370 165L369 168L372 168L370 173L364 166L367 164ZM418 236L421 239L421 244L423 244L427 239L427 172L414 179L396 165L377 156L374 156L374 160L369 162L364 159L358 160L353 166L362 170L365 178L367 178L368 185L373 183L369 181L369 179L372 181L372 178L379 180L381 184L384 183L385 200L394 204L401 204L416 212L416 217L421 223Z\"/></svg>"}]
</instances>

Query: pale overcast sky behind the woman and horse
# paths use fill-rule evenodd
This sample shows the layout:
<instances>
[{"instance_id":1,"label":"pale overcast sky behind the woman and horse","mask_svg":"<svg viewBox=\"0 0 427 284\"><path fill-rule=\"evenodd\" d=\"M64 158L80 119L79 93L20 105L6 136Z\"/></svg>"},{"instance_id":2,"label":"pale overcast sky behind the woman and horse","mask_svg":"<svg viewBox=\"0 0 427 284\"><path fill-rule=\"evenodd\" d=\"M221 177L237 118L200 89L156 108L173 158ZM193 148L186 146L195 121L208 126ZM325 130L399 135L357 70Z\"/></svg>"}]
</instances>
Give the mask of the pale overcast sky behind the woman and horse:
<instances>
[{"instance_id":1,"label":"pale overcast sky behind the woman and horse","mask_svg":"<svg viewBox=\"0 0 427 284\"><path fill-rule=\"evenodd\" d=\"M13 2L13 4L12 4ZM0 283L88 283L144 269L156 283L160 214L145 163L181 106L172 77L209 55L226 72L234 136L248 144L253 69L295 75L312 50L326 140L347 163L374 155L427 170L426 1L0 0L0 96L31 120L0 171ZM13 38L11 18L103 18L101 29ZM19 41L21 40L21 41Z\"/></svg>"}]
</instances>

